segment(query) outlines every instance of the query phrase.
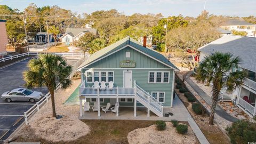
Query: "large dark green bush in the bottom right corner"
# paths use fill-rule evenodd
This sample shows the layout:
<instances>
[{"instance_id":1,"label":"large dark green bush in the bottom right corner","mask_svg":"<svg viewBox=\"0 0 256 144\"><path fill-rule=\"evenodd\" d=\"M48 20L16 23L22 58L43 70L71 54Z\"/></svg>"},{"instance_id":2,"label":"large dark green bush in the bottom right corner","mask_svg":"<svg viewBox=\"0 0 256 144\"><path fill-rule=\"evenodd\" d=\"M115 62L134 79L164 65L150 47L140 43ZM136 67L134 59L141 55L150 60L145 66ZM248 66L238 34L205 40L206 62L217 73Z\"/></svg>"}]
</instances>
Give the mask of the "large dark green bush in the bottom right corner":
<instances>
[{"instance_id":1,"label":"large dark green bush in the bottom right corner","mask_svg":"<svg viewBox=\"0 0 256 144\"><path fill-rule=\"evenodd\" d=\"M228 132L231 143L247 143L256 141L256 124L245 120L237 121L230 127Z\"/></svg>"}]
</instances>

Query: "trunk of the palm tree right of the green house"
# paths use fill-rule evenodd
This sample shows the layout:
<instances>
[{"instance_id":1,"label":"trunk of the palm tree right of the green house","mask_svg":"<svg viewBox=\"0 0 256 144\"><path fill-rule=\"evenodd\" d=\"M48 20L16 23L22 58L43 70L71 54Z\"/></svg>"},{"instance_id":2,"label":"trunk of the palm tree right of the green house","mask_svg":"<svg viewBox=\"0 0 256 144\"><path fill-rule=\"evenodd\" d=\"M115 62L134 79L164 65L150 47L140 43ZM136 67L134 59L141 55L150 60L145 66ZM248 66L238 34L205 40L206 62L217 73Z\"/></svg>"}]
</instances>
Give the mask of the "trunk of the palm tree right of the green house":
<instances>
[{"instance_id":1,"label":"trunk of the palm tree right of the green house","mask_svg":"<svg viewBox=\"0 0 256 144\"><path fill-rule=\"evenodd\" d=\"M211 125L213 125L215 108L217 106L219 94L220 94L220 89L217 86L217 84L214 82L212 87L212 107L211 107L211 113L210 113L210 119L209 119L209 124Z\"/></svg>"}]
</instances>

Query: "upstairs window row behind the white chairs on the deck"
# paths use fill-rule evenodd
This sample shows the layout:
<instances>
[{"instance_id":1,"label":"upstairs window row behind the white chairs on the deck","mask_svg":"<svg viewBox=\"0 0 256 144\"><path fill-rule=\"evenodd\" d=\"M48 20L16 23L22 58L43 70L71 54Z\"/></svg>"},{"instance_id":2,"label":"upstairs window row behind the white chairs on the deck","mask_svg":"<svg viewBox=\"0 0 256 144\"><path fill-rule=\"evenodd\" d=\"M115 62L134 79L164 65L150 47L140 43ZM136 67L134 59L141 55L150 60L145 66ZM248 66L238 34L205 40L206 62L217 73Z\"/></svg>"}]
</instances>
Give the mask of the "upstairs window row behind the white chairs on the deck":
<instances>
[{"instance_id":1,"label":"upstairs window row behind the white chairs on the deck","mask_svg":"<svg viewBox=\"0 0 256 144\"><path fill-rule=\"evenodd\" d=\"M86 71L86 82L114 82L114 71Z\"/></svg>"}]
</instances>

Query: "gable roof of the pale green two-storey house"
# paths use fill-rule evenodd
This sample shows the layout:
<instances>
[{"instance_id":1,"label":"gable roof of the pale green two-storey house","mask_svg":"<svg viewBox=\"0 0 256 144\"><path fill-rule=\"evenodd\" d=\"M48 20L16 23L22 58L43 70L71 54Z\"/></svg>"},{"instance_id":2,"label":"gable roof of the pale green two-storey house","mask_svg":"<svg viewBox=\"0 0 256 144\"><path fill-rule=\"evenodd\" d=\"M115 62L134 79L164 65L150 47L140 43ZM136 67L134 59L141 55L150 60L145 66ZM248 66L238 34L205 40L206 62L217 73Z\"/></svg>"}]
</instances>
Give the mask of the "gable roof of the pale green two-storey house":
<instances>
[{"instance_id":1,"label":"gable roof of the pale green two-storey house","mask_svg":"<svg viewBox=\"0 0 256 144\"><path fill-rule=\"evenodd\" d=\"M132 49L139 51L140 53L143 53L147 55L150 58L155 59L156 61L162 63L163 65L173 68L175 71L179 71L179 69L173 65L169 60L167 60L164 55L161 53L158 53L156 51L147 49L146 47L143 47L141 43L135 41L134 39L130 37L126 37L121 39L120 41L111 44L104 49L101 49L95 53L93 53L88 59L86 59L81 66L79 66L77 69L81 69L83 67L86 67L88 65L91 65L92 63L96 62L102 57L106 57L108 55L111 55L113 52L115 53L118 50L121 50L125 48L126 46L130 46Z\"/></svg>"}]
</instances>

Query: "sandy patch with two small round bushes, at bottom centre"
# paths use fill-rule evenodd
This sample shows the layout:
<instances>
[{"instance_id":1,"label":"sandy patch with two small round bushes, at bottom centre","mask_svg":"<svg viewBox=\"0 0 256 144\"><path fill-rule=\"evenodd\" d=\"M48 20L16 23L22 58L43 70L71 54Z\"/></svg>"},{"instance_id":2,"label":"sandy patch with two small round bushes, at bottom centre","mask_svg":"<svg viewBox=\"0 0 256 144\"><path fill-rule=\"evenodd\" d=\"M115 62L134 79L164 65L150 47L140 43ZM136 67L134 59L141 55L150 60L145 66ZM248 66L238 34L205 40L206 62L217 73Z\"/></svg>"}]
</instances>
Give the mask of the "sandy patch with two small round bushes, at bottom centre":
<instances>
[{"instance_id":1,"label":"sandy patch with two small round bushes, at bottom centre","mask_svg":"<svg viewBox=\"0 0 256 144\"><path fill-rule=\"evenodd\" d=\"M132 143L196 143L196 136L188 126L186 134L179 134L171 122L166 123L166 130L158 131L156 125L131 131L127 135L130 144Z\"/></svg>"}]
</instances>

